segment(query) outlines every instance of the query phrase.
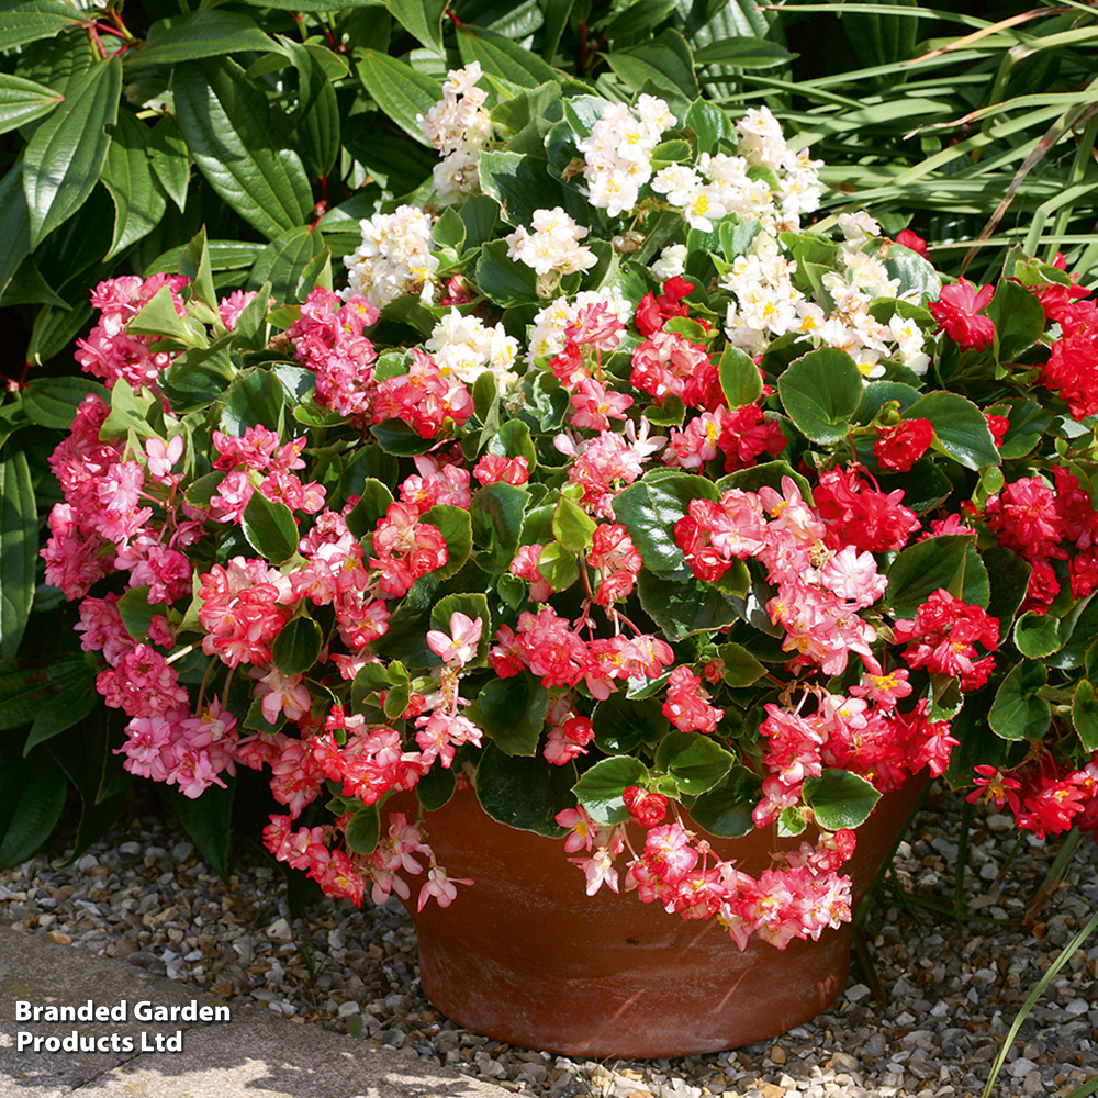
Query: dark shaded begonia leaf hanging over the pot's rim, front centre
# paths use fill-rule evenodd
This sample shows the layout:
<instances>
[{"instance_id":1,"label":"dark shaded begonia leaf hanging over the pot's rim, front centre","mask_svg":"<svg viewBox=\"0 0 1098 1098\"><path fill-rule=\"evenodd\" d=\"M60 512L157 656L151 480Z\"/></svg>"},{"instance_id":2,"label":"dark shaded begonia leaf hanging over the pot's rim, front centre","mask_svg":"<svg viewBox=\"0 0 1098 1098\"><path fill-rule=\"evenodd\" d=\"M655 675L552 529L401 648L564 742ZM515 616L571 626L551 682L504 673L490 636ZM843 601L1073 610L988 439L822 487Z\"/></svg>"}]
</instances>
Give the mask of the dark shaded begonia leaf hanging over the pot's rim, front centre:
<instances>
[{"instance_id":1,"label":"dark shaded begonia leaf hanging over the pot's rim, front centre","mask_svg":"<svg viewBox=\"0 0 1098 1098\"><path fill-rule=\"evenodd\" d=\"M477 766L477 797L492 819L552 838L564 833L556 816L575 806L574 783L573 763L547 766L542 759L509 755L495 743L484 748Z\"/></svg>"}]
</instances>

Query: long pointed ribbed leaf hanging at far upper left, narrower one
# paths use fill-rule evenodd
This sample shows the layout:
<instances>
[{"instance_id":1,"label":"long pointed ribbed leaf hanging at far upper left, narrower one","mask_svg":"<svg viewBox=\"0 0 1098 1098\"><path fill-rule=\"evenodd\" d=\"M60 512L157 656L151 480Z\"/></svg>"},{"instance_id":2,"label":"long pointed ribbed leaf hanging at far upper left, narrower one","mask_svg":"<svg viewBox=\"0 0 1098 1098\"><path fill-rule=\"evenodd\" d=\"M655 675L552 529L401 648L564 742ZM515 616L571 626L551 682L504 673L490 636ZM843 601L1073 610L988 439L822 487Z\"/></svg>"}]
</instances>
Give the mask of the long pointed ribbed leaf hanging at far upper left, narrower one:
<instances>
[{"instance_id":1,"label":"long pointed ribbed leaf hanging at far upper left, narrower one","mask_svg":"<svg viewBox=\"0 0 1098 1098\"><path fill-rule=\"evenodd\" d=\"M119 114L122 63L94 65L68 88L65 102L34 132L23 157L31 247L68 220L99 180Z\"/></svg>"}]
</instances>

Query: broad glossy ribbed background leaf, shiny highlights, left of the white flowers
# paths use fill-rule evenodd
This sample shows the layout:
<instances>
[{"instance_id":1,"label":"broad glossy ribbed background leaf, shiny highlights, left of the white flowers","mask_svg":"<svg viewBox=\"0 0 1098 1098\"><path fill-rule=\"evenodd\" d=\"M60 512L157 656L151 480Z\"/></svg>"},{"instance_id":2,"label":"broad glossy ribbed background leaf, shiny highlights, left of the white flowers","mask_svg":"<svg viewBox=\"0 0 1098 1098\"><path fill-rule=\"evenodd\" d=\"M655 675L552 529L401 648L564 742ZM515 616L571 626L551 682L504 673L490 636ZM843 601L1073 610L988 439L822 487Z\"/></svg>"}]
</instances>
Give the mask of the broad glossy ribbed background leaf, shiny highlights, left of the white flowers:
<instances>
[{"instance_id":1,"label":"broad glossy ribbed background leaf, shiny highlights, left of the white flowers","mask_svg":"<svg viewBox=\"0 0 1098 1098\"><path fill-rule=\"evenodd\" d=\"M227 57L187 61L173 79L179 126L202 175L273 240L311 220L313 195L293 149L279 147L261 89Z\"/></svg>"}]
</instances>

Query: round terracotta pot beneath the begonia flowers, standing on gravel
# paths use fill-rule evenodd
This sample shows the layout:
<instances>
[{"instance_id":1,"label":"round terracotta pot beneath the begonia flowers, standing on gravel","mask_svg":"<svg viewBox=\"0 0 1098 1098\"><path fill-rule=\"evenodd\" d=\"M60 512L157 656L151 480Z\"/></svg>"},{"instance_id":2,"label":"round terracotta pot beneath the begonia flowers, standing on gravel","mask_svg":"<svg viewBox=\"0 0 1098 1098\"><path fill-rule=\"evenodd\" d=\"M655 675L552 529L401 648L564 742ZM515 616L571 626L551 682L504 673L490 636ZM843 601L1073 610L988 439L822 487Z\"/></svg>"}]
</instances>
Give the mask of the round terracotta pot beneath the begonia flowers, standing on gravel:
<instances>
[{"instance_id":1,"label":"round terracotta pot beneath the begonia flowers, standing on gravel","mask_svg":"<svg viewBox=\"0 0 1098 1098\"><path fill-rule=\"evenodd\" d=\"M858 829L845 866L855 904L926 784L882 797ZM412 800L390 807L415 817ZM795 939L784 952L752 938L741 953L714 920L681 919L605 887L589 897L560 840L497 824L471 792L424 822L447 874L475 884L459 885L448 908L432 900L417 912L415 890L405 905L423 989L478 1033L570 1056L718 1052L815 1018L845 985L849 926L825 930L818 942ZM713 845L753 875L771 864L771 832Z\"/></svg>"}]
</instances>

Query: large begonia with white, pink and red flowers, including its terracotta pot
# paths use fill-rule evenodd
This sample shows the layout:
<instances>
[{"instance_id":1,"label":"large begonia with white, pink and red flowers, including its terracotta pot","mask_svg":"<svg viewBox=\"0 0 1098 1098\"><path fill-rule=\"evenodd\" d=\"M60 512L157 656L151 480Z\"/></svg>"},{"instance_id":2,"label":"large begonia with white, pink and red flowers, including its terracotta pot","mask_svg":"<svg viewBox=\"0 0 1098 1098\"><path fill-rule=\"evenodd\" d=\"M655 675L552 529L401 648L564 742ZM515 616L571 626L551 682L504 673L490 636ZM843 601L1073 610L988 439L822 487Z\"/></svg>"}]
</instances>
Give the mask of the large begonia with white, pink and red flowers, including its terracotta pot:
<instances>
[{"instance_id":1,"label":"large begonia with white, pink and red flowers, including its terracotta pot","mask_svg":"<svg viewBox=\"0 0 1098 1098\"><path fill-rule=\"evenodd\" d=\"M839 993L928 775L1098 828L1098 324L1061 266L809 227L764 108L572 90L451 72L435 200L339 292L219 300L202 237L97 287L43 556L125 768L269 771L268 848L406 900L444 1009L706 1051Z\"/></svg>"}]
</instances>

